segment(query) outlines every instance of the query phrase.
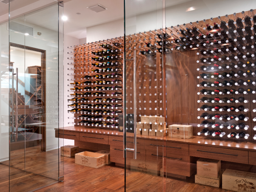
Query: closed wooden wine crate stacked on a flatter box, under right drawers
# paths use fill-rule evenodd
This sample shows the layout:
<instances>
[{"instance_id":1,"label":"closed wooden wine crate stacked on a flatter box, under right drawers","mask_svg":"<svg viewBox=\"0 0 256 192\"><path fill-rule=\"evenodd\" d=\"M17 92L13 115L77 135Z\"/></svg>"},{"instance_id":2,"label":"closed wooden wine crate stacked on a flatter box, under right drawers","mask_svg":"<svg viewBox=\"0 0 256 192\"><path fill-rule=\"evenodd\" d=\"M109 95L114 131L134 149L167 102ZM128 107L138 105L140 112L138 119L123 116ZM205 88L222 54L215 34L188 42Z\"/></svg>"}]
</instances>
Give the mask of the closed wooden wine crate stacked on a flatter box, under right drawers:
<instances>
[{"instance_id":1,"label":"closed wooden wine crate stacked on a flatter box, under right drawers","mask_svg":"<svg viewBox=\"0 0 256 192\"><path fill-rule=\"evenodd\" d=\"M197 176L219 178L221 174L221 160L200 158L196 164Z\"/></svg>"}]
</instances>

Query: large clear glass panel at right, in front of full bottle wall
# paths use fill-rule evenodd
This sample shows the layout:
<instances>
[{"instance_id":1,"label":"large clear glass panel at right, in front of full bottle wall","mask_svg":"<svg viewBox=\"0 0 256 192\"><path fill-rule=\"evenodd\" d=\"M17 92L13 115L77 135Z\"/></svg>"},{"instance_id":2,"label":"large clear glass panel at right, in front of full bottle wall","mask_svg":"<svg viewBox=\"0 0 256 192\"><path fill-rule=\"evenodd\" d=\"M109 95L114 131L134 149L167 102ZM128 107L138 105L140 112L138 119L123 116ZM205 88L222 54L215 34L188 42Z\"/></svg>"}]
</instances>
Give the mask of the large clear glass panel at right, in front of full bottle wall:
<instances>
[{"instance_id":1,"label":"large clear glass panel at right, in front of full bottle wall","mask_svg":"<svg viewBox=\"0 0 256 192\"><path fill-rule=\"evenodd\" d=\"M166 191L240 191L227 187L227 172L255 174L255 8L251 0L165 1Z\"/></svg>"}]
</instances>

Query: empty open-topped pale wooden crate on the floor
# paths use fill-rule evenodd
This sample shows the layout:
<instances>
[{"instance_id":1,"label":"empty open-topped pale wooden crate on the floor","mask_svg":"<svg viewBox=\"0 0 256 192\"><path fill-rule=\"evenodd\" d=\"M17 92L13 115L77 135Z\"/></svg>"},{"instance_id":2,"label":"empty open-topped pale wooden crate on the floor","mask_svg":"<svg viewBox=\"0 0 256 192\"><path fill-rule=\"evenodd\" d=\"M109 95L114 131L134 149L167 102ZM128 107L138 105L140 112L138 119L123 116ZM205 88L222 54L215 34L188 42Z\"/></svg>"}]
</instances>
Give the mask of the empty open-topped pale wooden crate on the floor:
<instances>
[{"instance_id":1,"label":"empty open-topped pale wooden crate on the floor","mask_svg":"<svg viewBox=\"0 0 256 192\"><path fill-rule=\"evenodd\" d=\"M84 151L75 154L75 164L98 168L105 165L105 155Z\"/></svg>"}]
</instances>

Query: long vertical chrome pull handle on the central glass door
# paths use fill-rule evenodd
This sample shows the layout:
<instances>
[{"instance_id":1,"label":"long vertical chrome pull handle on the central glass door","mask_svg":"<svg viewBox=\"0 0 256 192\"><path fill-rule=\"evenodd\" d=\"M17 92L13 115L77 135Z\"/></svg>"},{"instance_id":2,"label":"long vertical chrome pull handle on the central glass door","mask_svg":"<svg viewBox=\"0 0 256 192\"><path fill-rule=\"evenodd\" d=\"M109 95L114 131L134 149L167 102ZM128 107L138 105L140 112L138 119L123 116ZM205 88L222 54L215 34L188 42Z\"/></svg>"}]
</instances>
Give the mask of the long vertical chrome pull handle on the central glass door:
<instances>
[{"instance_id":1,"label":"long vertical chrome pull handle on the central glass door","mask_svg":"<svg viewBox=\"0 0 256 192\"><path fill-rule=\"evenodd\" d=\"M137 112L136 112L136 50L133 51L133 111L134 111L134 159L137 158L137 136L136 136L136 125L137 125Z\"/></svg>"}]
</instances>

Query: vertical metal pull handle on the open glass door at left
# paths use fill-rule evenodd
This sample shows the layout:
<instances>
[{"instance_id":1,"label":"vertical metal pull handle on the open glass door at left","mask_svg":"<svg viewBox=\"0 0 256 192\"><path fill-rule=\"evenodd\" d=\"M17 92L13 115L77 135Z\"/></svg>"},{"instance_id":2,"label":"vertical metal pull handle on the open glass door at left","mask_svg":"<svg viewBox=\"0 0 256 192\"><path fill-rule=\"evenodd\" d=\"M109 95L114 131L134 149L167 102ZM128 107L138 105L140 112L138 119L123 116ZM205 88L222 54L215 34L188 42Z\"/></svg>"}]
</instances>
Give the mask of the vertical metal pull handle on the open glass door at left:
<instances>
[{"instance_id":1,"label":"vertical metal pull handle on the open glass door at left","mask_svg":"<svg viewBox=\"0 0 256 192\"><path fill-rule=\"evenodd\" d=\"M14 75L16 75L16 133L14 132ZM18 68L16 68L16 74L12 69L12 139L16 134L16 140L18 140Z\"/></svg>"}]
</instances>

